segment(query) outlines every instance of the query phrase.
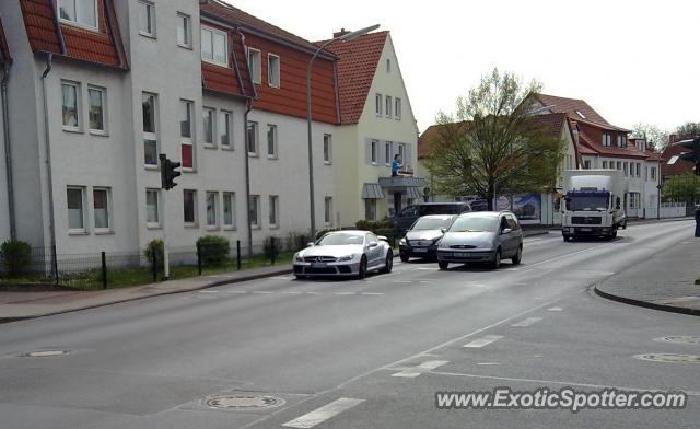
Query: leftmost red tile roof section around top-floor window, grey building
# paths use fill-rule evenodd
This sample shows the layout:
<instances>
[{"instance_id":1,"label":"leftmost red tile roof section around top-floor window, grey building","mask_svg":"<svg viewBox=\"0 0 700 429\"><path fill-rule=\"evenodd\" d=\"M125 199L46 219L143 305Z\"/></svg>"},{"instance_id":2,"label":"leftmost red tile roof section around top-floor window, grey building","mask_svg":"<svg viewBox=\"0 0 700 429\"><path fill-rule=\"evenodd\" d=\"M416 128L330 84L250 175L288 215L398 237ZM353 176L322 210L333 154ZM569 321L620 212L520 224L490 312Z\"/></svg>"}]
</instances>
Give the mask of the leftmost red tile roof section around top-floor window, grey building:
<instances>
[{"instance_id":1,"label":"leftmost red tile roof section around top-floor window, grey building","mask_svg":"<svg viewBox=\"0 0 700 429\"><path fill-rule=\"evenodd\" d=\"M55 10L47 0L20 0L24 26L34 53L61 53L62 34L65 55L103 66L128 68L128 61L113 0L97 1L98 31L90 31L60 23L55 24Z\"/></svg>"}]
</instances>

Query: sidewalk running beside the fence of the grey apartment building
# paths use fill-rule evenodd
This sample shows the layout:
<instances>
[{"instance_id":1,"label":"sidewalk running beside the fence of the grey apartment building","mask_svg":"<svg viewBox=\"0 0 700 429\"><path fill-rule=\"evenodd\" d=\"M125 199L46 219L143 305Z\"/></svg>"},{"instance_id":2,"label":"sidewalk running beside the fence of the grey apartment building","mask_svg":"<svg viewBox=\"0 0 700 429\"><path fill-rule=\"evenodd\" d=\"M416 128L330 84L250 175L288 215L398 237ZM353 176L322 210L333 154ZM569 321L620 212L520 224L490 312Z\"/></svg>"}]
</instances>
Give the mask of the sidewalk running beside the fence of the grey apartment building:
<instances>
[{"instance_id":1,"label":"sidewalk running beside the fence of the grey apartment building","mask_svg":"<svg viewBox=\"0 0 700 429\"><path fill-rule=\"evenodd\" d=\"M0 323L236 283L292 271L291 264L100 291L0 291Z\"/></svg>"}]
</instances>

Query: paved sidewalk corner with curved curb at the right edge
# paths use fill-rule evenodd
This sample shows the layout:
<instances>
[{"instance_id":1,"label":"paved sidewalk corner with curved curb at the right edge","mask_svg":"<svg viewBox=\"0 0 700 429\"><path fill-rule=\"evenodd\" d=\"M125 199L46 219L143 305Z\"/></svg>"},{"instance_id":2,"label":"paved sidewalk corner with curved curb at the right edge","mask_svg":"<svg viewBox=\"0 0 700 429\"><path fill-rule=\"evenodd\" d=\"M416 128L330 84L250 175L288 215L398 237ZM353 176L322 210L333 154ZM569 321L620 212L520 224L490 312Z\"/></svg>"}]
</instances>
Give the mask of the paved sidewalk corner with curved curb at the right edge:
<instances>
[{"instance_id":1,"label":"paved sidewalk corner with curved curb at the right edge","mask_svg":"<svg viewBox=\"0 0 700 429\"><path fill-rule=\"evenodd\" d=\"M600 297L675 313L700 315L700 239L688 239L596 285Z\"/></svg>"}]
</instances>

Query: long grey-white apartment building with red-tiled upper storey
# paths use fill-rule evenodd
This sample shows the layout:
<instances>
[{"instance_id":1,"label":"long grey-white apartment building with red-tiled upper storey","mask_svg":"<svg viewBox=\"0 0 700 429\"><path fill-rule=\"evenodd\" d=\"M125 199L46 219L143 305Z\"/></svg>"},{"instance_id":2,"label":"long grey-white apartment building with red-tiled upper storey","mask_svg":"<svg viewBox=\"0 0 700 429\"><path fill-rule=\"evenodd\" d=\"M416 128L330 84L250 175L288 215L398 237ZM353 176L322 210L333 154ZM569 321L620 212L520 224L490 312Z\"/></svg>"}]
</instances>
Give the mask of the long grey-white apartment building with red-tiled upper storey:
<instances>
[{"instance_id":1,"label":"long grey-white apartment building with red-tiled upper storey","mask_svg":"<svg viewBox=\"0 0 700 429\"><path fill-rule=\"evenodd\" d=\"M165 231L176 248L205 234L247 243L308 230L315 45L215 0L16 0L0 4L0 65L12 59L0 241L133 252ZM322 53L313 74L316 199L326 202L315 216L328 224L336 60ZM160 153L183 164L168 192Z\"/></svg>"}]
</instances>

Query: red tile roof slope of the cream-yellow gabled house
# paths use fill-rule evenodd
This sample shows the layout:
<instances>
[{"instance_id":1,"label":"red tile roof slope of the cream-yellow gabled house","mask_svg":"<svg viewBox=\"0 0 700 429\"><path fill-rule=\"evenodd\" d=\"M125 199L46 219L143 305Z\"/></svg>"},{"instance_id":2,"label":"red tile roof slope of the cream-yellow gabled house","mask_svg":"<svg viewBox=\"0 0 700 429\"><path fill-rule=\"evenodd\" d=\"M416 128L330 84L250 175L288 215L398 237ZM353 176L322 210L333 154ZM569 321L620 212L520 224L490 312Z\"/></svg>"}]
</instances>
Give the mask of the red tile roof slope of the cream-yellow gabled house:
<instances>
[{"instance_id":1,"label":"red tile roof slope of the cream-yellow gabled house","mask_svg":"<svg viewBox=\"0 0 700 429\"><path fill-rule=\"evenodd\" d=\"M388 34L370 33L349 42L336 42L328 47L339 57L341 124L357 124L360 120Z\"/></svg>"}]
</instances>

